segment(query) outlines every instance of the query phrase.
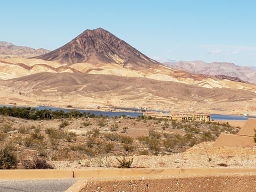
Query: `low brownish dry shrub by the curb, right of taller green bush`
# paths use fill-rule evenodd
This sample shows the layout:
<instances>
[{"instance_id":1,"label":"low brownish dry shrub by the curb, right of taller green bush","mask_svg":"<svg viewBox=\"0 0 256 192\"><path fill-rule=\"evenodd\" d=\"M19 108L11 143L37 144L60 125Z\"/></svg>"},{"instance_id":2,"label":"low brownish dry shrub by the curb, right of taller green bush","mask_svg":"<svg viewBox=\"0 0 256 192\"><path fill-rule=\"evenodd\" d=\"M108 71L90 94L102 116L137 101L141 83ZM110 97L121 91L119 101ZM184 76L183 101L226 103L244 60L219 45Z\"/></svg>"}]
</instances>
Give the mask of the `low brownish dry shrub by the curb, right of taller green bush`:
<instances>
[{"instance_id":1,"label":"low brownish dry shrub by the curb, right of taller green bush","mask_svg":"<svg viewBox=\"0 0 256 192\"><path fill-rule=\"evenodd\" d=\"M24 169L53 169L54 167L44 159L35 158L33 160L23 160L22 166Z\"/></svg>"}]
</instances>

